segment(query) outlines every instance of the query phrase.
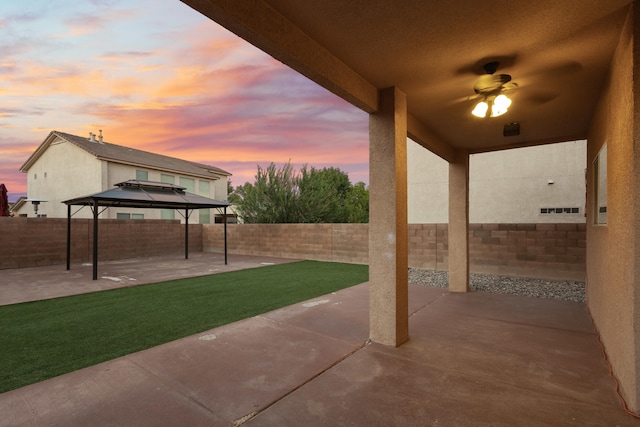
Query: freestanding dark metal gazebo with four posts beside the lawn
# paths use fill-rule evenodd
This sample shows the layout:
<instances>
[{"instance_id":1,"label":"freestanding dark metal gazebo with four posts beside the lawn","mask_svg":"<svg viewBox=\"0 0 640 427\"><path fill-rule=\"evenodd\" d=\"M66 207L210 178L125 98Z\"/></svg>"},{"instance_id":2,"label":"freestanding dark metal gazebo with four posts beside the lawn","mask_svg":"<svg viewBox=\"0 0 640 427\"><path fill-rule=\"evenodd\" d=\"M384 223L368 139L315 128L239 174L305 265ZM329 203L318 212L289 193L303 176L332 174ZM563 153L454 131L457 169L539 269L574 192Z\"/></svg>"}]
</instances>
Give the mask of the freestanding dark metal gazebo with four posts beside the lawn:
<instances>
[{"instance_id":1,"label":"freestanding dark metal gazebo with four posts beside the lawn","mask_svg":"<svg viewBox=\"0 0 640 427\"><path fill-rule=\"evenodd\" d=\"M222 208L224 214L224 263L227 264L228 202L187 193L185 187L165 182L128 180L115 188L65 200L67 205L67 270L71 268L71 206L89 206L93 212L93 280L98 279L98 215L109 207L184 210L184 257L189 258L189 216L195 209ZM104 209L100 210L103 207Z\"/></svg>"}]
</instances>

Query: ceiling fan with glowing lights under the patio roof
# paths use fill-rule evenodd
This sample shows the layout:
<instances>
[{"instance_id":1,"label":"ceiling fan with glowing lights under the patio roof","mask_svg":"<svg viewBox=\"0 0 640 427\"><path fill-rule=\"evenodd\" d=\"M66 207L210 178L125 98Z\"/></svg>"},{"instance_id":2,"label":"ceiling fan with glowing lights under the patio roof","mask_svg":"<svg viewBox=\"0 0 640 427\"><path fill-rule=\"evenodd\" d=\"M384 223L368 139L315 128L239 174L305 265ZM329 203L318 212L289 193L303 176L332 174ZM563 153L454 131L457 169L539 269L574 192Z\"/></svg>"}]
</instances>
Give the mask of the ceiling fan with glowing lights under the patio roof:
<instances>
[{"instance_id":1,"label":"ceiling fan with glowing lights under the patio roof","mask_svg":"<svg viewBox=\"0 0 640 427\"><path fill-rule=\"evenodd\" d=\"M482 98L471 112L476 117L498 117L507 112L511 106L509 99L504 92L515 89L518 85L511 81L509 74L496 74L500 63L497 61L487 62L483 65L485 75L480 77L473 90L476 95L470 97Z\"/></svg>"}]
</instances>

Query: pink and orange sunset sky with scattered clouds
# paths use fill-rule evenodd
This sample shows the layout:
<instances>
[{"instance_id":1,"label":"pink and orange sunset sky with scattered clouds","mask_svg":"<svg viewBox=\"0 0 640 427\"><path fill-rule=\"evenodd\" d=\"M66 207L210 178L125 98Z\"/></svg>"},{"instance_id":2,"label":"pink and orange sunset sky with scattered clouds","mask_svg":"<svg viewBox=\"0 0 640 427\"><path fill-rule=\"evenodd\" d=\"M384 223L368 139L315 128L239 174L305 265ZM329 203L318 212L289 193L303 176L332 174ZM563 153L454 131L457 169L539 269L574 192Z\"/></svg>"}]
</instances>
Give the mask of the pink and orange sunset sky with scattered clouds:
<instances>
[{"instance_id":1,"label":"pink and orange sunset sky with scattered clouds","mask_svg":"<svg viewBox=\"0 0 640 427\"><path fill-rule=\"evenodd\" d=\"M367 114L179 0L0 2L0 182L52 130L211 164L335 166L368 182Z\"/></svg>"}]
</instances>

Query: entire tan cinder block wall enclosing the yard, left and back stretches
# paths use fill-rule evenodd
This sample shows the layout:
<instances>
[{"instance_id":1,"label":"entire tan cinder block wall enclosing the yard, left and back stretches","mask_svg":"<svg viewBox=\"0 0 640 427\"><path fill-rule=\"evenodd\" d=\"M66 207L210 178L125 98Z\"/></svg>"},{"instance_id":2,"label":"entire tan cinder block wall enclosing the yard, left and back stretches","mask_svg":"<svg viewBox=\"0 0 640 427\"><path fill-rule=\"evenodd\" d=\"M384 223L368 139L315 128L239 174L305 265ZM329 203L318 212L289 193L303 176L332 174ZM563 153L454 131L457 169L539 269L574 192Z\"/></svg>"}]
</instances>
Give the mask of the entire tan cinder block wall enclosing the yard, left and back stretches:
<instances>
[{"instance_id":1,"label":"entire tan cinder block wall enclosing the yard, left and back stretches","mask_svg":"<svg viewBox=\"0 0 640 427\"><path fill-rule=\"evenodd\" d=\"M184 253L177 220L99 221L99 259ZM409 266L448 268L447 224L409 224ZM368 224L229 224L231 254L369 262ZM92 259L90 219L74 219L71 262ZM0 269L64 264L66 219L0 218ZM223 225L189 226L189 250L222 252ZM473 273L584 280L584 224L471 224Z\"/></svg>"}]
</instances>

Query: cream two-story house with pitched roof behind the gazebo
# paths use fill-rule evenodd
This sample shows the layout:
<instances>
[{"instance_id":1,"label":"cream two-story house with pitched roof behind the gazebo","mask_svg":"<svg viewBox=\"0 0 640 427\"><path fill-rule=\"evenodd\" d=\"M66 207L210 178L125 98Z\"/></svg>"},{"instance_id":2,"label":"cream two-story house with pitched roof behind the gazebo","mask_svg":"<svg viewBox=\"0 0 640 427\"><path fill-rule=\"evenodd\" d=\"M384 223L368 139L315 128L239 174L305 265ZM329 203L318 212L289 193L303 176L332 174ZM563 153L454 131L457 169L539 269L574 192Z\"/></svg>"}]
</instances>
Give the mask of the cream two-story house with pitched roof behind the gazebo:
<instances>
[{"instance_id":1,"label":"cream two-story house with pitched roof behind the gazebo","mask_svg":"<svg viewBox=\"0 0 640 427\"><path fill-rule=\"evenodd\" d=\"M159 181L184 187L189 193L216 200L227 200L227 179L231 174L215 166L150 153L89 137L52 131L20 168L27 174L28 200L46 200L38 205L38 215L66 218L64 200L108 190L129 179ZM28 201L20 203L14 215L34 216ZM209 224L219 214L201 209L189 223ZM83 209L74 218L90 218ZM173 209L109 208L100 218L180 219Z\"/></svg>"}]
</instances>

